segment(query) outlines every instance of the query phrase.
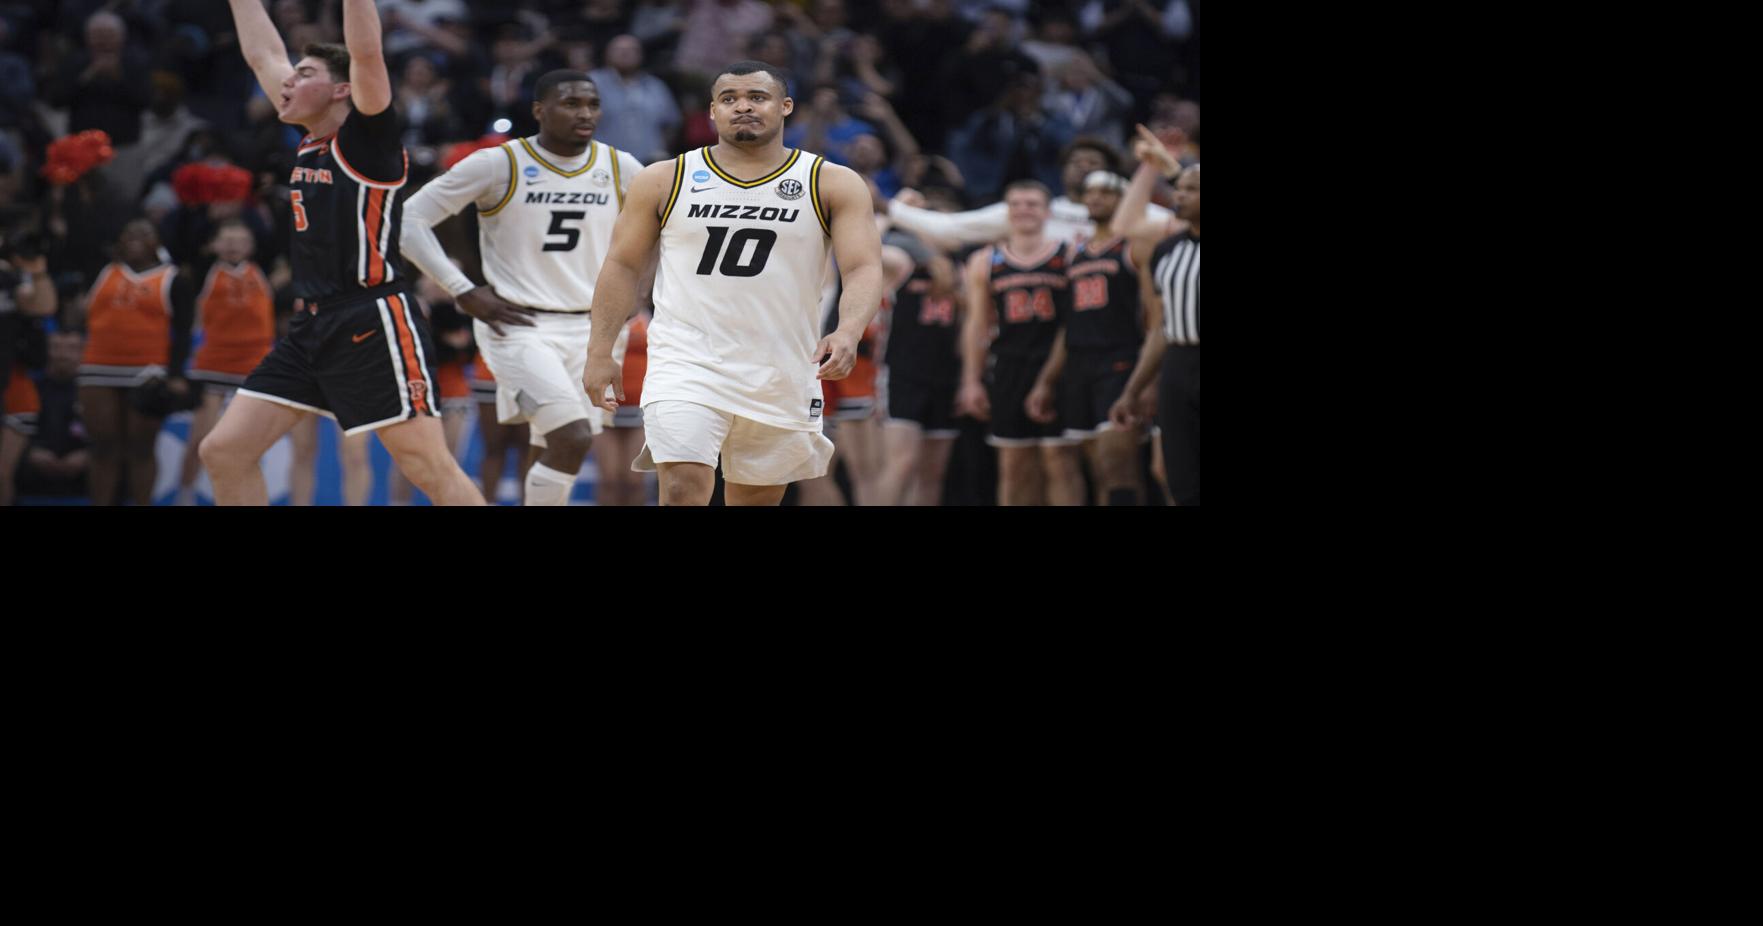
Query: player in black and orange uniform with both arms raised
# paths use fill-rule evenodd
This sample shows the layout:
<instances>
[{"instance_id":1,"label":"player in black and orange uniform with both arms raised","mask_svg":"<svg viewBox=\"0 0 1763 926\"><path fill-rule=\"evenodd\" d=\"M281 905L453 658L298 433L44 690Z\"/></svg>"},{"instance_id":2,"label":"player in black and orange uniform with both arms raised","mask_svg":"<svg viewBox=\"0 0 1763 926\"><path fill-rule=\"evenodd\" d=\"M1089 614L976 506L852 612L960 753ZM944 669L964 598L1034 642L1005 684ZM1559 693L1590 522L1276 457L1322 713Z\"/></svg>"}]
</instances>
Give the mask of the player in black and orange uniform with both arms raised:
<instances>
[{"instance_id":1,"label":"player in black and orange uniform with both arms raised","mask_svg":"<svg viewBox=\"0 0 1763 926\"><path fill-rule=\"evenodd\" d=\"M372 0L344 0L344 46L287 49L259 0L229 0L240 51L282 122L307 138L289 178L294 321L240 386L201 444L219 504L266 504L257 460L305 414L344 434L377 430L398 469L435 504L483 504L453 460L428 356L413 310L414 279L398 258L400 190L409 157Z\"/></svg>"}]
</instances>

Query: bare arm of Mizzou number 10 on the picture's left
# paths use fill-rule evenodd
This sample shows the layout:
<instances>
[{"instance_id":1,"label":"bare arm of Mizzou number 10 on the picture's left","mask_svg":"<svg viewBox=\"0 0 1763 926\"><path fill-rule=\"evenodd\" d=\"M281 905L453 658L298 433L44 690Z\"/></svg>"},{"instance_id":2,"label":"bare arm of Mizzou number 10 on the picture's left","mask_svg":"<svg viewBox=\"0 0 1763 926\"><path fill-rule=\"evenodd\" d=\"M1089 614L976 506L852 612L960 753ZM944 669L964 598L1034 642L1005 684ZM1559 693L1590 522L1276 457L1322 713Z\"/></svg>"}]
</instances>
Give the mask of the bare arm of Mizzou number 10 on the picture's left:
<instances>
[{"instance_id":1,"label":"bare arm of Mizzou number 10 on the picture's left","mask_svg":"<svg viewBox=\"0 0 1763 926\"><path fill-rule=\"evenodd\" d=\"M619 402L624 400L624 379L612 360L612 346L619 340L624 321L631 317L631 309L636 305L636 280L661 240L661 210L668 206L668 196L673 192L677 164L677 161L651 164L631 180L624 208L612 226L612 247L606 249L599 279L594 280L594 305L589 310L594 333L587 339L587 372L582 374L582 388L606 411L619 411ZM608 386L617 400L606 397Z\"/></svg>"}]
</instances>

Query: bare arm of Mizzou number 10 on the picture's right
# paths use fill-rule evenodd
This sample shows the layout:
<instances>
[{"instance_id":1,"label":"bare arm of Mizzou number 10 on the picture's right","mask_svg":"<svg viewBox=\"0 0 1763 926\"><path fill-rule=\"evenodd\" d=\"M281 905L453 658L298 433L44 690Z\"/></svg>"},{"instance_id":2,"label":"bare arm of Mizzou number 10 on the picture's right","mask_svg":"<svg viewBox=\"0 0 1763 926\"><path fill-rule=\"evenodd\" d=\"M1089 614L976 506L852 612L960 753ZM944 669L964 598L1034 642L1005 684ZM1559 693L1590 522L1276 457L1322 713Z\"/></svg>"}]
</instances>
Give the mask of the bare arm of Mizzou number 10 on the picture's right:
<instances>
[{"instance_id":1,"label":"bare arm of Mizzou number 10 on the picture's right","mask_svg":"<svg viewBox=\"0 0 1763 926\"><path fill-rule=\"evenodd\" d=\"M844 379L857 367L857 342L882 309L882 236L876 233L869 185L837 164L820 168L820 199L832 224L832 258L839 261L839 330L820 339L815 356L822 379Z\"/></svg>"}]
</instances>

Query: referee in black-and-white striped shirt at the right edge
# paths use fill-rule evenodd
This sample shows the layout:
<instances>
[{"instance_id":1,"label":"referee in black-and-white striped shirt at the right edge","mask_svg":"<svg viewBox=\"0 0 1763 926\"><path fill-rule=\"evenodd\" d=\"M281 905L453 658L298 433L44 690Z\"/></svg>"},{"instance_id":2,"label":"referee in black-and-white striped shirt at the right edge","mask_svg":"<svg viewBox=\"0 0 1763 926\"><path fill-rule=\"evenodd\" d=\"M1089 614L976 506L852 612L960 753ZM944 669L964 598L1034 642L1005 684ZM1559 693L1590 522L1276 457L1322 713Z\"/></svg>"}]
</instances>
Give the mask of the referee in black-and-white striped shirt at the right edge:
<instances>
[{"instance_id":1,"label":"referee in black-and-white striped shirt at the right edge","mask_svg":"<svg viewBox=\"0 0 1763 926\"><path fill-rule=\"evenodd\" d=\"M1162 367L1157 425L1164 432L1164 469L1176 504L1201 503L1201 166L1176 180L1176 217L1188 228L1164 238L1139 268L1144 296L1144 349L1120 400L1109 409L1118 427L1134 425L1134 397Z\"/></svg>"}]
</instances>

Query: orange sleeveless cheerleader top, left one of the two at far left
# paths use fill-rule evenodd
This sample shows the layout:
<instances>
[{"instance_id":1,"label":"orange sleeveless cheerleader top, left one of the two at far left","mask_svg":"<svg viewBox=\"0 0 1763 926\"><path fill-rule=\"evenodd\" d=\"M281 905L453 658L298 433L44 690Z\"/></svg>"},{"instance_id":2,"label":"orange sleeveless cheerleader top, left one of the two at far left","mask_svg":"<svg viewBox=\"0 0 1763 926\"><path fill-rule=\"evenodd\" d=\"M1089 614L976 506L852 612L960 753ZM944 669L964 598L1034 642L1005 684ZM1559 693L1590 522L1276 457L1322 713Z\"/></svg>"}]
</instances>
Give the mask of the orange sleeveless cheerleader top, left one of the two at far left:
<instances>
[{"instance_id":1,"label":"orange sleeveless cheerleader top, left one of the two at far left","mask_svg":"<svg viewBox=\"0 0 1763 926\"><path fill-rule=\"evenodd\" d=\"M113 263L86 296L86 353L81 363L166 367L171 362L173 282L178 268L136 273ZM185 296L187 298L187 296Z\"/></svg>"}]
</instances>

